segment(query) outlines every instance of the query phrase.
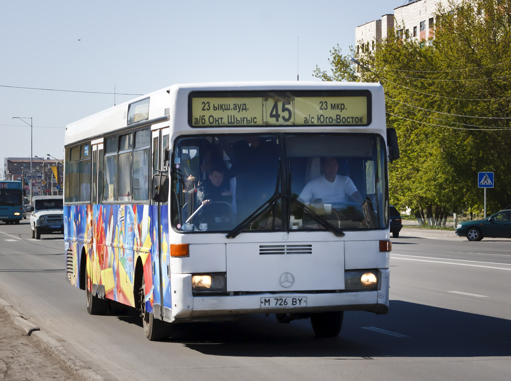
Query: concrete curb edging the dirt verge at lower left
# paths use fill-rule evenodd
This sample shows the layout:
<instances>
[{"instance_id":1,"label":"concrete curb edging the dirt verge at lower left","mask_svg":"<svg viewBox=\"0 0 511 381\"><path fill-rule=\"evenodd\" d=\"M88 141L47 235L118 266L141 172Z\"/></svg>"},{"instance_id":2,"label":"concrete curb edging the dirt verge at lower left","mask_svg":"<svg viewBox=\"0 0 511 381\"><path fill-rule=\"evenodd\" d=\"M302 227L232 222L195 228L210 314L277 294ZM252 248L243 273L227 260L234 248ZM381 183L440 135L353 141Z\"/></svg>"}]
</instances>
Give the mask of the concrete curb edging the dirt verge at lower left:
<instances>
[{"instance_id":1,"label":"concrete curb edging the dirt verge at lower left","mask_svg":"<svg viewBox=\"0 0 511 381\"><path fill-rule=\"evenodd\" d=\"M53 339L47 333L42 332L37 325L26 320L18 311L14 309L4 299L0 298L0 307L9 315L9 318L18 327L23 329L27 336L33 336L41 345L52 355L57 357L66 368L76 374L84 381L104 381L105 379L94 370L86 366L81 360L67 353L65 347L57 340ZM0 360L0 371L6 367L6 364ZM2 372L3 374L3 372ZM1 377L0 377L1 378Z\"/></svg>"}]
</instances>

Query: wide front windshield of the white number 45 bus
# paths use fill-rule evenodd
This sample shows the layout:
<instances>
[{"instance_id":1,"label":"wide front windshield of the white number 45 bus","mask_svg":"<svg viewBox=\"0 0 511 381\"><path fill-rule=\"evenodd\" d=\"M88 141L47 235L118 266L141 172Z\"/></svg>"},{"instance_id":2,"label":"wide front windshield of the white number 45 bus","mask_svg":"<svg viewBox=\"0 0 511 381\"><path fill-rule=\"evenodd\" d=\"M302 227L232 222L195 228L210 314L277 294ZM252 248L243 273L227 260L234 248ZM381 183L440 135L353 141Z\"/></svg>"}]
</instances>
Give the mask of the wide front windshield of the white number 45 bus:
<instances>
[{"instance_id":1,"label":"wide front windshield of the white number 45 bus","mask_svg":"<svg viewBox=\"0 0 511 381\"><path fill-rule=\"evenodd\" d=\"M181 232L341 231L386 226L386 150L377 134L176 139L172 223Z\"/></svg>"}]
</instances>

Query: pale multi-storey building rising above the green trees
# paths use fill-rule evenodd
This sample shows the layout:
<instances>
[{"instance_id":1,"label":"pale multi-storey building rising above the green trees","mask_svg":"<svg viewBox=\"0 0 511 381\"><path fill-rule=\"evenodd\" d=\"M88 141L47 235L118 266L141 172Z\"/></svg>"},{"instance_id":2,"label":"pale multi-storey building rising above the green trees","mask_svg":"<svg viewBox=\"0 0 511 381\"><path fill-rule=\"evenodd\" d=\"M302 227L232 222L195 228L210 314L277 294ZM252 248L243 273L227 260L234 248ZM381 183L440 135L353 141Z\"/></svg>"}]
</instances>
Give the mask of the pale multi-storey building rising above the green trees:
<instances>
[{"instance_id":1,"label":"pale multi-storey building rising above the green trees","mask_svg":"<svg viewBox=\"0 0 511 381\"><path fill-rule=\"evenodd\" d=\"M455 0L461 3L461 0ZM434 38L434 13L438 5L448 6L448 0L417 0L394 8L380 20L366 22L355 28L355 53L360 56L378 49L378 44L394 30L404 39L413 38L425 43Z\"/></svg>"}]
</instances>

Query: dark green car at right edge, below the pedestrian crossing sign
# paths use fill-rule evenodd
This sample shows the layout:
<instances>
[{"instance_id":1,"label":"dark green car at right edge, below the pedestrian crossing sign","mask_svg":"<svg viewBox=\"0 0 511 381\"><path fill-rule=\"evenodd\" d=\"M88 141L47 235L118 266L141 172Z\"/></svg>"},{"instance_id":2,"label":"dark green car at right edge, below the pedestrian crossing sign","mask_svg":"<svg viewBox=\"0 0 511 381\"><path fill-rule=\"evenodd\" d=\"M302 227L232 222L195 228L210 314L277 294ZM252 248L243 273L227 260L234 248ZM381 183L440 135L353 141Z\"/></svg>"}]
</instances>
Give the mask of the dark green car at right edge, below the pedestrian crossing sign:
<instances>
[{"instance_id":1,"label":"dark green car at right edge, below the pedestrian crossing sign","mask_svg":"<svg viewBox=\"0 0 511 381\"><path fill-rule=\"evenodd\" d=\"M484 237L511 238L511 209L501 210L483 220L458 223L455 232L469 241L480 241Z\"/></svg>"}]
</instances>

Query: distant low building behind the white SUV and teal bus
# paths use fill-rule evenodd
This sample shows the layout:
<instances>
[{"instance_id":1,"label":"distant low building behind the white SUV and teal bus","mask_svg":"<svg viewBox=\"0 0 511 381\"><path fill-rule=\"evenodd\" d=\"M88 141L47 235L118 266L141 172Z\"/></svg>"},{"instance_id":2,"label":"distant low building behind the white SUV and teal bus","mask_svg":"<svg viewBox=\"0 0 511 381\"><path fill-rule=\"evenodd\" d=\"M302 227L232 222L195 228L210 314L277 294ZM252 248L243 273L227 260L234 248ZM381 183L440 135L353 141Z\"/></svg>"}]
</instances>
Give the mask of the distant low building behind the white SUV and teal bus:
<instances>
[{"instance_id":1,"label":"distant low building behind the white SUV and teal bus","mask_svg":"<svg viewBox=\"0 0 511 381\"><path fill-rule=\"evenodd\" d=\"M27 196L30 194L29 177L33 177L33 196L62 194L62 160L32 158L30 175L30 158L5 158L3 172L5 180L22 181Z\"/></svg>"}]
</instances>

